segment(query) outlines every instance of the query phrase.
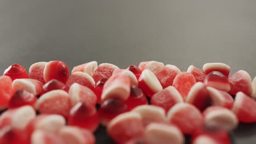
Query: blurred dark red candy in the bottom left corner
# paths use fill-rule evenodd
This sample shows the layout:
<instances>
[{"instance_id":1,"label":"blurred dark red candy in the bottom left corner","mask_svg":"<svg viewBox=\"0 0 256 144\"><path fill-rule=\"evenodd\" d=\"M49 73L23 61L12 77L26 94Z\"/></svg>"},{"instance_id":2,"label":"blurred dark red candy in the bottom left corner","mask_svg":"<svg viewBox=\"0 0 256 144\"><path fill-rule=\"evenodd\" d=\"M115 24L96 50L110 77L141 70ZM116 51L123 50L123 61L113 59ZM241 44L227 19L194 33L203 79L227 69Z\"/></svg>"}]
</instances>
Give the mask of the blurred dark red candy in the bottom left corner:
<instances>
[{"instance_id":1,"label":"blurred dark red candy in the bottom left corner","mask_svg":"<svg viewBox=\"0 0 256 144\"><path fill-rule=\"evenodd\" d=\"M30 137L24 130L5 127L0 130L0 134L1 144L30 144Z\"/></svg>"}]
</instances>

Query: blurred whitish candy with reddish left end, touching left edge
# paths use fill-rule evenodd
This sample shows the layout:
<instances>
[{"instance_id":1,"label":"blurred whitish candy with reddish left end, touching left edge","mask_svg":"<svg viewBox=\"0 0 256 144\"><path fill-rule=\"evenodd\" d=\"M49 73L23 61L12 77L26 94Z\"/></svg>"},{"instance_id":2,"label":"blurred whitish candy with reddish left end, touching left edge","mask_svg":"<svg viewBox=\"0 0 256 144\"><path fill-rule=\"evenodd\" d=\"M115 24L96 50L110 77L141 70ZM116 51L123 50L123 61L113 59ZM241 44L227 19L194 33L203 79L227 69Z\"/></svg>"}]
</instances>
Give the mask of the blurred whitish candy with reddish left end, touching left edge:
<instances>
[{"instance_id":1,"label":"blurred whitish candy with reddish left end, touching left edge","mask_svg":"<svg viewBox=\"0 0 256 144\"><path fill-rule=\"evenodd\" d=\"M36 112L31 106L9 109L0 116L0 128L10 126L11 128L23 130L34 117L36 117Z\"/></svg>"}]
</instances>

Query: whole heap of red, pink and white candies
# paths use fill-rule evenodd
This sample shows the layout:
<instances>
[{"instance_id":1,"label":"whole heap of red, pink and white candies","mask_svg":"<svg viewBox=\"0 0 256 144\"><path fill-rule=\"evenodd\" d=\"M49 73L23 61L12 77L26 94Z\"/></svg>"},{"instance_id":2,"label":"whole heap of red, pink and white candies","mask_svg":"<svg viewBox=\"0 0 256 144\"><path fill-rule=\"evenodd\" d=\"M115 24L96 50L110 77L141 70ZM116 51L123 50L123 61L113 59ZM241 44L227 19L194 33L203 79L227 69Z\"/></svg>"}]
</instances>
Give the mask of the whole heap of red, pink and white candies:
<instances>
[{"instance_id":1,"label":"whole heap of red, pink and white candies","mask_svg":"<svg viewBox=\"0 0 256 144\"><path fill-rule=\"evenodd\" d=\"M223 63L89 62L10 65L0 76L0 143L95 143L100 124L117 143L231 143L238 122L256 122L256 79ZM230 75L230 76L229 76ZM96 105L100 105L97 109Z\"/></svg>"}]
</instances>

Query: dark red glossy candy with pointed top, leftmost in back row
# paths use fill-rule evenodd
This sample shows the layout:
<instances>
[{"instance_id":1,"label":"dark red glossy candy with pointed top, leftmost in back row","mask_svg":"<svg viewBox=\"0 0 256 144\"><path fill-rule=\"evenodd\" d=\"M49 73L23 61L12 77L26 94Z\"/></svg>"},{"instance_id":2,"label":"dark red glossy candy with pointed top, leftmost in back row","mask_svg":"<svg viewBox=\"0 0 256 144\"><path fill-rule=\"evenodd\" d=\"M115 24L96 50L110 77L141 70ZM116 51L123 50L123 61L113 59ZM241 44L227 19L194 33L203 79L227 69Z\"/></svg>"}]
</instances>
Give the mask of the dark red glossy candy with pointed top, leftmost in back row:
<instances>
[{"instance_id":1,"label":"dark red glossy candy with pointed top, leftmost in back row","mask_svg":"<svg viewBox=\"0 0 256 144\"><path fill-rule=\"evenodd\" d=\"M10 67L4 70L3 75L11 77L11 80L15 79L28 79L27 71L20 64L11 64Z\"/></svg>"}]
</instances>

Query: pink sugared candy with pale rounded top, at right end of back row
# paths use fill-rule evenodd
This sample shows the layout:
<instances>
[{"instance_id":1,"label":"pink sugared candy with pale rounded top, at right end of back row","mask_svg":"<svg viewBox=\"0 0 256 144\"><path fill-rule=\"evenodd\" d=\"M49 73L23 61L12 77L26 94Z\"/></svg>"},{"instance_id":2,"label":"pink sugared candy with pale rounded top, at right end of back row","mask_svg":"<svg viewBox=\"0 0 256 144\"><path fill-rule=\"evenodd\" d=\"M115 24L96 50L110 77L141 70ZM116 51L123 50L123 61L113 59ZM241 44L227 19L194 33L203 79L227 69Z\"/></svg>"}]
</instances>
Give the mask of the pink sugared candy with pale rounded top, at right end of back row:
<instances>
[{"instance_id":1,"label":"pink sugared candy with pale rounded top, at right end of back row","mask_svg":"<svg viewBox=\"0 0 256 144\"><path fill-rule=\"evenodd\" d=\"M243 92L251 95L253 92L251 76L245 70L239 70L229 77L230 94L236 95L237 92Z\"/></svg>"}]
</instances>

